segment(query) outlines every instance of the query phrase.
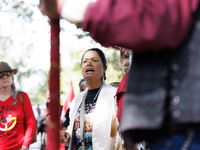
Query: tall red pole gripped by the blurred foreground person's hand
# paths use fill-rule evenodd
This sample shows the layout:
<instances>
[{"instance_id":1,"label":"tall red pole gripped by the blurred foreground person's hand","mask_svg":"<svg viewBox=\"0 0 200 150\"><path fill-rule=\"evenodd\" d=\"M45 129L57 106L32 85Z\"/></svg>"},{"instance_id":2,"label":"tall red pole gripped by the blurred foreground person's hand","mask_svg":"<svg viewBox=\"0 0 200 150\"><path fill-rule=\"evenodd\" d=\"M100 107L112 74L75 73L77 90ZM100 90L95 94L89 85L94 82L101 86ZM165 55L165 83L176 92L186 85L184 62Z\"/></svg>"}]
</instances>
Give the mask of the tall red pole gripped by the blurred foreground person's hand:
<instances>
[{"instance_id":1,"label":"tall red pole gripped by the blurred foreground person's hand","mask_svg":"<svg viewBox=\"0 0 200 150\"><path fill-rule=\"evenodd\" d=\"M59 108L60 108L60 52L58 20L51 20L51 67L50 67L50 120L47 123L47 148L46 150L59 150Z\"/></svg>"}]
</instances>

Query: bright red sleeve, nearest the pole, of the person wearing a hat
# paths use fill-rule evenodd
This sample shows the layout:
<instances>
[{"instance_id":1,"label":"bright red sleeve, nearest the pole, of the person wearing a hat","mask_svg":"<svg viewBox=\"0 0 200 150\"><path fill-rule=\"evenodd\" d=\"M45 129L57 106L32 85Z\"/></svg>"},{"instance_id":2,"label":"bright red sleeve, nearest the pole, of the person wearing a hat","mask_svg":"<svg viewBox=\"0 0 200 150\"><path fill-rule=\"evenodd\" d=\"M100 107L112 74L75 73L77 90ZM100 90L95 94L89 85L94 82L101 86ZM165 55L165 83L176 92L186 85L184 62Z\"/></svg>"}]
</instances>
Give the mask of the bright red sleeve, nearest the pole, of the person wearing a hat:
<instances>
[{"instance_id":1,"label":"bright red sleeve, nearest the pole, of the person wearing a hat","mask_svg":"<svg viewBox=\"0 0 200 150\"><path fill-rule=\"evenodd\" d=\"M31 101L25 92L23 92L23 99L24 99L23 108L24 108L25 126L26 126L23 146L29 147L29 145L33 140L33 135L36 127L36 119L32 110Z\"/></svg>"}]
</instances>

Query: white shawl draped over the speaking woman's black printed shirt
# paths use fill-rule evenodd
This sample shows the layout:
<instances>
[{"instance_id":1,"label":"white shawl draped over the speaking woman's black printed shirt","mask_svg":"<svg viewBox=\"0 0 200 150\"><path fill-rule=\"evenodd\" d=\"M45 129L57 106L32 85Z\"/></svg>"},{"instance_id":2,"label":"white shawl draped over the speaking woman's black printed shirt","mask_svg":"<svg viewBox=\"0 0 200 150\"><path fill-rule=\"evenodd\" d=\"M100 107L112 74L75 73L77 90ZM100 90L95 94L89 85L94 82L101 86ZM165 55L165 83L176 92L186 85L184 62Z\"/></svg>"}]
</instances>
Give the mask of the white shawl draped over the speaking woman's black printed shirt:
<instances>
[{"instance_id":1,"label":"white shawl draped over the speaking woman's black printed shirt","mask_svg":"<svg viewBox=\"0 0 200 150\"><path fill-rule=\"evenodd\" d=\"M114 138L110 137L111 120L112 116L116 113L114 96L117 89L105 83L102 86L94 109L95 118L93 118L92 143L94 150L111 150L111 147L114 145ZM85 92L81 92L75 96L70 106L70 125L66 130L71 135L70 143L72 143L75 115Z\"/></svg>"}]
</instances>

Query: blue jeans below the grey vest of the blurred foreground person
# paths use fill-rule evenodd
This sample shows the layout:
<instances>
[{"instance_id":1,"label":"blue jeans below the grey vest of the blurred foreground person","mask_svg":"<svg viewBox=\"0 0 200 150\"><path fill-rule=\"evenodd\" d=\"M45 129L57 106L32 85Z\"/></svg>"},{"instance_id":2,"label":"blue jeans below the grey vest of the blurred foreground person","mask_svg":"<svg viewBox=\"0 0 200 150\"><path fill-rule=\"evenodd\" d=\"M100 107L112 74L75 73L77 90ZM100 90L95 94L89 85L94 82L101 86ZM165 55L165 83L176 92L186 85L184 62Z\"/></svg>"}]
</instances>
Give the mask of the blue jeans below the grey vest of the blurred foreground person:
<instances>
[{"instance_id":1,"label":"blue jeans below the grey vest of the blurred foreground person","mask_svg":"<svg viewBox=\"0 0 200 150\"><path fill-rule=\"evenodd\" d=\"M180 150L187 138L188 134L186 133L163 136L149 143L150 150ZM194 138L187 150L200 150L200 131L195 131Z\"/></svg>"}]
</instances>

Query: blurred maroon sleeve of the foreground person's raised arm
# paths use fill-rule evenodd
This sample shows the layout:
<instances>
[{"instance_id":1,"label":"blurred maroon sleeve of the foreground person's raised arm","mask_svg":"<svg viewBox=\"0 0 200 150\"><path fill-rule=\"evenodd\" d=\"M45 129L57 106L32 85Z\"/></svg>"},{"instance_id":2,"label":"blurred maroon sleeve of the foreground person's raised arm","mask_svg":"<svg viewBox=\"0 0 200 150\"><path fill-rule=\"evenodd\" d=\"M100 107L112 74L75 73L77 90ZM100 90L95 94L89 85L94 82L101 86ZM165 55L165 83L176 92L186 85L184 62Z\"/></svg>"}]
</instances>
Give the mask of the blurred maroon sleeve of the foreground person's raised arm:
<instances>
[{"instance_id":1,"label":"blurred maroon sleeve of the foreground person's raised arm","mask_svg":"<svg viewBox=\"0 0 200 150\"><path fill-rule=\"evenodd\" d=\"M97 0L82 28L103 46L134 52L175 48L190 31L199 0Z\"/></svg>"}]
</instances>

